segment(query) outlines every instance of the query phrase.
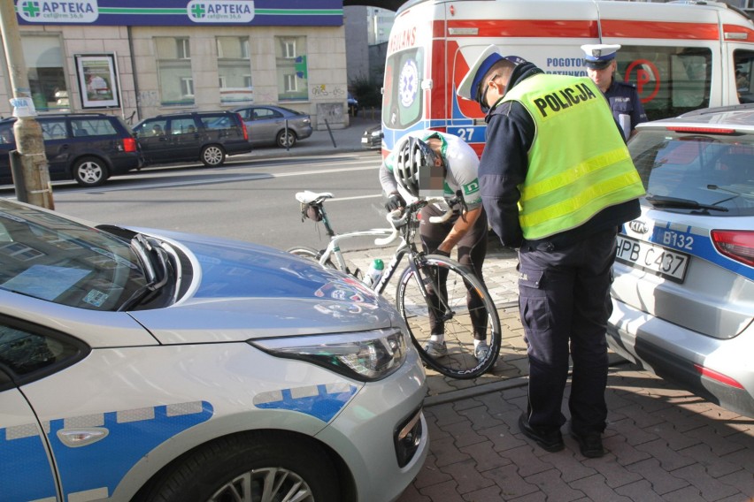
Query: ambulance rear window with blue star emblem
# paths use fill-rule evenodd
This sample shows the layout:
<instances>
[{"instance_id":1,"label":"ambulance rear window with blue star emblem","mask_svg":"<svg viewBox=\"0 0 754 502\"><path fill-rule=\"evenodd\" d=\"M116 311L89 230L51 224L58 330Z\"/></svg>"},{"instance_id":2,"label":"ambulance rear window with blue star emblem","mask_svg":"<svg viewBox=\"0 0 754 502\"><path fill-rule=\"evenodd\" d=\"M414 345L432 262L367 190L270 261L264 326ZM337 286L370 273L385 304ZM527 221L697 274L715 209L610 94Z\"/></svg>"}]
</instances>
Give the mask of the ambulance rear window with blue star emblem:
<instances>
[{"instance_id":1,"label":"ambulance rear window with blue star emblem","mask_svg":"<svg viewBox=\"0 0 754 502\"><path fill-rule=\"evenodd\" d=\"M424 49L396 52L385 65L382 95L382 123L391 129L404 129L421 118L421 79Z\"/></svg>"}]
</instances>

